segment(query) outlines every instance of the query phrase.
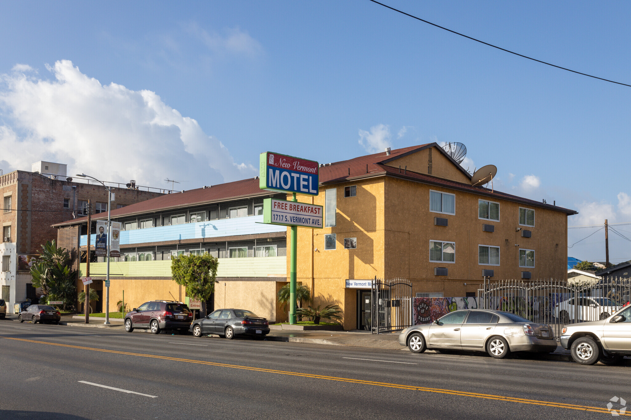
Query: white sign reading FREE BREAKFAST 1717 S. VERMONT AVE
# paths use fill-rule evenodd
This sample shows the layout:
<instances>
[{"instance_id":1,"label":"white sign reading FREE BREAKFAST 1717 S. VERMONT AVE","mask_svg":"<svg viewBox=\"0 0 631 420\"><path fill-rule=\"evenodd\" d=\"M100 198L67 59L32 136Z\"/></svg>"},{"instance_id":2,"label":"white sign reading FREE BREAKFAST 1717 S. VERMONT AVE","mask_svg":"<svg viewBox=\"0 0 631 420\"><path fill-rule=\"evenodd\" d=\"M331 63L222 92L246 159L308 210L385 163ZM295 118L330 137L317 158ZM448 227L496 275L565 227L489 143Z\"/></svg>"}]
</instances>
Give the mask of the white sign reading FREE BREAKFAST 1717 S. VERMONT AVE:
<instances>
[{"instance_id":1,"label":"white sign reading FREE BREAKFAST 1717 S. VERMONT AVE","mask_svg":"<svg viewBox=\"0 0 631 420\"><path fill-rule=\"evenodd\" d=\"M322 229L323 222L322 206L277 198L263 200L263 223Z\"/></svg>"}]
</instances>

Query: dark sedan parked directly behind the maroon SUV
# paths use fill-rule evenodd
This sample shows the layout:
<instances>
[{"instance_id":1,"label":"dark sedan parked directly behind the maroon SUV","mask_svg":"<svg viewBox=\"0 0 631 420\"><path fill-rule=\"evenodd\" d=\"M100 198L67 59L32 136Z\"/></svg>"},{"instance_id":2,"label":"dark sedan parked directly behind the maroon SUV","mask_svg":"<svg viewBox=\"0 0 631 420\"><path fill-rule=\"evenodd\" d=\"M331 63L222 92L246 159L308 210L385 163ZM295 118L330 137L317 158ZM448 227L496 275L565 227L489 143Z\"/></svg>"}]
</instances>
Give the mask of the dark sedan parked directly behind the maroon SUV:
<instances>
[{"instance_id":1,"label":"dark sedan parked directly behind the maroon SUV","mask_svg":"<svg viewBox=\"0 0 631 420\"><path fill-rule=\"evenodd\" d=\"M196 337L201 337L202 334L218 334L229 340L238 335L262 339L269 334L269 322L249 310L219 309L202 319L196 319L189 331Z\"/></svg>"}]
</instances>

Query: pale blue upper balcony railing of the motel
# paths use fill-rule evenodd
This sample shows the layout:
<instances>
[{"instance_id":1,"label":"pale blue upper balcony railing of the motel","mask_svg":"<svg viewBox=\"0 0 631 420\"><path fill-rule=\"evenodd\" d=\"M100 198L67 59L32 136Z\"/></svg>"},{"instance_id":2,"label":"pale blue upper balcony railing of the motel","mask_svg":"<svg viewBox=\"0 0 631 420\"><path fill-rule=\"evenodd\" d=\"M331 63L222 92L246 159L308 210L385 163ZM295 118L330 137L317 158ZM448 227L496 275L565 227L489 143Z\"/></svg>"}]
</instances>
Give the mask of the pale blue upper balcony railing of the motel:
<instances>
[{"instance_id":1,"label":"pale blue upper balcony railing of the motel","mask_svg":"<svg viewBox=\"0 0 631 420\"><path fill-rule=\"evenodd\" d=\"M182 239L203 239L222 236L266 234L285 232L286 227L264 224L262 215L237 217L235 219L209 220L208 222L186 223L181 225L148 227L146 229L122 230L121 245L146 242L180 241ZM91 235L94 245L96 235ZM81 246L86 246L88 236L81 236Z\"/></svg>"}]
</instances>

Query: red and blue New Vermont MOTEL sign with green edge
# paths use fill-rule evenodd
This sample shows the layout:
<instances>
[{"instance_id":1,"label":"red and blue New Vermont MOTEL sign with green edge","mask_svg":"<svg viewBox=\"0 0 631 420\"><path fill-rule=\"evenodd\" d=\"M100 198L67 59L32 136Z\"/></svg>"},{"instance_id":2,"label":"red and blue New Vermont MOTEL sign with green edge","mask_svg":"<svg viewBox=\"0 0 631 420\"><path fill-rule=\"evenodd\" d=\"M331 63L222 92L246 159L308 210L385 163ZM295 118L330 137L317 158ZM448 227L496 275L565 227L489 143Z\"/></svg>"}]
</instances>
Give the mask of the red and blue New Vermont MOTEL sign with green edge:
<instances>
[{"instance_id":1,"label":"red and blue New Vermont MOTEL sign with green edge","mask_svg":"<svg viewBox=\"0 0 631 420\"><path fill-rule=\"evenodd\" d=\"M261 190L318 195L318 163L280 153L261 153Z\"/></svg>"}]
</instances>

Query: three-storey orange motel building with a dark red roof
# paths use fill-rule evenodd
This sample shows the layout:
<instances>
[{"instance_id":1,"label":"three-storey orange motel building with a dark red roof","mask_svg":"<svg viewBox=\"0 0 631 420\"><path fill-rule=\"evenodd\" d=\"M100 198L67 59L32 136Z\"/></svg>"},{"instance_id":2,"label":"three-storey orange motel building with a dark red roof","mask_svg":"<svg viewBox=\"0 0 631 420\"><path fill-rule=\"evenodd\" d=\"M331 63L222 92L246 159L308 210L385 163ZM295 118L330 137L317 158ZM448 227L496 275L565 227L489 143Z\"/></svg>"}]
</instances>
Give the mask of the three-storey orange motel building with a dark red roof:
<instances>
[{"instance_id":1,"label":"three-storey orange motel building with a dark red roof","mask_svg":"<svg viewBox=\"0 0 631 420\"><path fill-rule=\"evenodd\" d=\"M312 305L339 305L345 329L369 329L365 302L375 276L410 280L413 296L426 297L476 296L483 276L567 278L567 216L576 212L473 186L436 143L321 164L319 195L297 196L324 207L322 229L298 227L297 281L312 290ZM211 253L220 263L209 309L240 307L286 321L276 293L289 280L291 228L262 224L265 198L291 195L261 190L254 178L112 210L125 230L121 261L110 263L110 311L122 290L129 307L184 302L168 260ZM81 241L85 258L86 218L55 226L60 244L62 237L66 247ZM83 276L85 262L80 267ZM105 263L91 263L90 273L102 288Z\"/></svg>"}]
</instances>

